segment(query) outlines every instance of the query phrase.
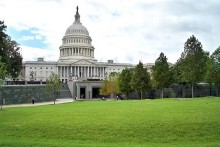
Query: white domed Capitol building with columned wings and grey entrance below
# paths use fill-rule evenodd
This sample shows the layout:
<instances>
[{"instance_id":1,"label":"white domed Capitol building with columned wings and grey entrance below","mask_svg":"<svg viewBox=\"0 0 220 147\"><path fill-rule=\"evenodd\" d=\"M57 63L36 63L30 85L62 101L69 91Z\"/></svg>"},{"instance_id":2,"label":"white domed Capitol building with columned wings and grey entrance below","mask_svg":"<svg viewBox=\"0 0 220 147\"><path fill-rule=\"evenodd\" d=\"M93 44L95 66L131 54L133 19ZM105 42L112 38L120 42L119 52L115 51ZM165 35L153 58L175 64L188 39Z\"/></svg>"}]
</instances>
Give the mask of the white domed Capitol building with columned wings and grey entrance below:
<instances>
[{"instance_id":1,"label":"white domed Capitol building with columned wings and grey entrance below","mask_svg":"<svg viewBox=\"0 0 220 147\"><path fill-rule=\"evenodd\" d=\"M23 80L47 81L54 72L63 83L68 83L73 97L84 95L84 98L91 99L97 95L101 81L109 73L132 67L129 63L114 63L113 60L98 62L95 59L95 48L88 30L80 21L78 7L75 21L67 28L59 52L57 62L44 61L43 58L24 62Z\"/></svg>"}]
</instances>

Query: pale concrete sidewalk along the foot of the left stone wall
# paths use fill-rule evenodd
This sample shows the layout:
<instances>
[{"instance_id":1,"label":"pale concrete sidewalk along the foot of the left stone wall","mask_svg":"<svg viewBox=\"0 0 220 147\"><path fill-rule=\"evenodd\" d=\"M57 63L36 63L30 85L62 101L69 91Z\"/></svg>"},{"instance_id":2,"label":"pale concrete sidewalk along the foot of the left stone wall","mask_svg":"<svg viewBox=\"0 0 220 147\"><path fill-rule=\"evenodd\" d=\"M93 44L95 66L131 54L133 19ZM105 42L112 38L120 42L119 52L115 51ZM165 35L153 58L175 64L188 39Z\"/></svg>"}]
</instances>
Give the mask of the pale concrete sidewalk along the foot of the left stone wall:
<instances>
[{"instance_id":1,"label":"pale concrete sidewalk along the foot of the left stone wall","mask_svg":"<svg viewBox=\"0 0 220 147\"><path fill-rule=\"evenodd\" d=\"M69 103L73 102L73 98L63 98L63 99L57 99L56 104L63 104L63 103ZM50 102L39 102L35 104L13 104L13 105L3 105L2 108L10 108L10 107L30 107L30 106L42 106L42 105L52 105L54 104L53 101Z\"/></svg>"}]
</instances>

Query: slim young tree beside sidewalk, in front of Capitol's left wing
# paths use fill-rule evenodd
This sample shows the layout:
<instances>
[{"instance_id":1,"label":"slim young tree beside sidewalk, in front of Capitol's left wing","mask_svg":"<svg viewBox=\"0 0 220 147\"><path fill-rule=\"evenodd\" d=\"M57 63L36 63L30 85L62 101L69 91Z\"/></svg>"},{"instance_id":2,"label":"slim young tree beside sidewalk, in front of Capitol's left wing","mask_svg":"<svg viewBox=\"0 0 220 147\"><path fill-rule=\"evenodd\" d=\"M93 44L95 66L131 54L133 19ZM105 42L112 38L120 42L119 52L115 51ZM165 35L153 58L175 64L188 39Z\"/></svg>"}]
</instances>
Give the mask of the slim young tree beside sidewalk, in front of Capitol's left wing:
<instances>
[{"instance_id":1,"label":"slim young tree beside sidewalk, in front of Capitol's left wing","mask_svg":"<svg viewBox=\"0 0 220 147\"><path fill-rule=\"evenodd\" d=\"M58 91L60 90L60 88L61 88L60 78L57 74L52 72L51 75L49 76L49 79L47 80L45 89L47 92L52 92L54 94L54 104L57 99Z\"/></svg>"}]
</instances>

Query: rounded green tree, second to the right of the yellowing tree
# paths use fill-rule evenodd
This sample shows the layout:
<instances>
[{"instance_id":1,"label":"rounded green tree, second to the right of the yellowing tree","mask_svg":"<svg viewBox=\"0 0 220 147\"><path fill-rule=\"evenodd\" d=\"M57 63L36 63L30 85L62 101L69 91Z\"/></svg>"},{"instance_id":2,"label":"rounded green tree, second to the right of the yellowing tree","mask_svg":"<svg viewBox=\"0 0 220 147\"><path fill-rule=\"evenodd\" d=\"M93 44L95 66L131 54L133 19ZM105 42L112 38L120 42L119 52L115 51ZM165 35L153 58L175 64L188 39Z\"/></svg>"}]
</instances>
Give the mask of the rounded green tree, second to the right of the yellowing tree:
<instances>
[{"instance_id":1,"label":"rounded green tree, second to the right of the yellowing tree","mask_svg":"<svg viewBox=\"0 0 220 147\"><path fill-rule=\"evenodd\" d=\"M150 89L150 74L147 69L143 67L143 63L135 67L134 73L131 79L132 89L141 94L141 99L143 98L143 92Z\"/></svg>"}]
</instances>

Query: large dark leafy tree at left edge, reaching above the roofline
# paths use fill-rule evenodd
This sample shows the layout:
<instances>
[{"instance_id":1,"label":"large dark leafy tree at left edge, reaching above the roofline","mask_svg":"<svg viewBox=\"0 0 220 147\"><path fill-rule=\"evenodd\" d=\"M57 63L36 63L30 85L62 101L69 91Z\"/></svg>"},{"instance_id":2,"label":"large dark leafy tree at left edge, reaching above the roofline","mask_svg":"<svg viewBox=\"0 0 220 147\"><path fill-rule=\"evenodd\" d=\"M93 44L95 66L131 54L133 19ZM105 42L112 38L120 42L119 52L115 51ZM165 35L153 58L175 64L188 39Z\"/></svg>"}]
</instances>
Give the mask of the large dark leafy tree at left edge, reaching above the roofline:
<instances>
[{"instance_id":1,"label":"large dark leafy tree at left edge, reaching above the roofline","mask_svg":"<svg viewBox=\"0 0 220 147\"><path fill-rule=\"evenodd\" d=\"M22 56L17 42L4 32L6 28L4 22L0 21L0 56L6 65L7 74L16 78L22 69Z\"/></svg>"}]
</instances>

